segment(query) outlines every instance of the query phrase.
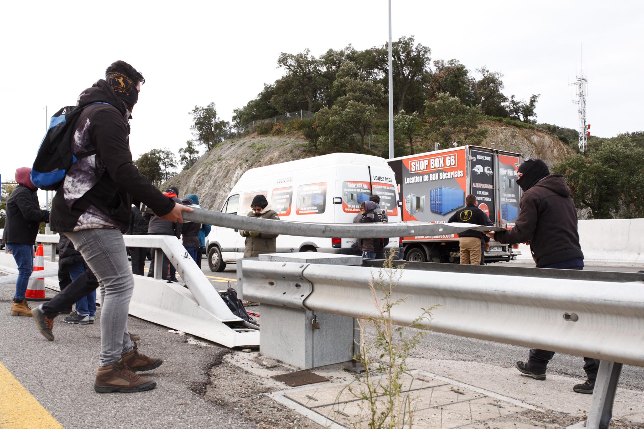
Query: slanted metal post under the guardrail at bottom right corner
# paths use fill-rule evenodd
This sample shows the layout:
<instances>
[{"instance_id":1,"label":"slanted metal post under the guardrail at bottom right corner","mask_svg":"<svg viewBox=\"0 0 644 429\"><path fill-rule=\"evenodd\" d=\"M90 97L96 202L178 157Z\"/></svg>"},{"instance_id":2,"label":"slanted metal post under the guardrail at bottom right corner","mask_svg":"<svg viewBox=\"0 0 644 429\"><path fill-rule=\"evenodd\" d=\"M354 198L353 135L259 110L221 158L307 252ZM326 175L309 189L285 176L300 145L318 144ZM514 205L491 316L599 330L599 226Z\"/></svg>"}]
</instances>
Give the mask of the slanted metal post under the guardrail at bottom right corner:
<instances>
[{"instance_id":1,"label":"slanted metal post under the guardrail at bottom right corner","mask_svg":"<svg viewBox=\"0 0 644 429\"><path fill-rule=\"evenodd\" d=\"M607 429L611 424L612 405L615 401L617 382L620 379L621 363L601 361L592 393L586 429Z\"/></svg>"}]
</instances>

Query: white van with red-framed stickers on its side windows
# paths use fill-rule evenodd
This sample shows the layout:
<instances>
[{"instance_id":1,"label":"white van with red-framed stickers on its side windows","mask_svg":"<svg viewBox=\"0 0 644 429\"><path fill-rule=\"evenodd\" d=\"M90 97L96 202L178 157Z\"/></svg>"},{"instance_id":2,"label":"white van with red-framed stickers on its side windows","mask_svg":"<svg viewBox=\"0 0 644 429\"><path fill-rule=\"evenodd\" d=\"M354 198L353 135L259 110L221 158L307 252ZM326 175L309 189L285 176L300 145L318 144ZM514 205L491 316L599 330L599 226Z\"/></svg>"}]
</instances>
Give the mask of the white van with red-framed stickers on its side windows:
<instances>
[{"instance_id":1,"label":"white van with red-framed stickers on its side windows","mask_svg":"<svg viewBox=\"0 0 644 429\"><path fill-rule=\"evenodd\" d=\"M221 211L247 216L251 201L261 194L279 218L294 222L350 224L360 204L374 193L386 209L389 222L400 222L402 203L395 176L384 158L356 153L332 153L321 157L252 168L232 188ZM243 238L236 229L213 226L206 238L212 271L243 258ZM317 238L280 235L278 252L358 254L354 238ZM400 249L400 238L389 239L387 249ZM402 254L402 253L401 253Z\"/></svg>"}]
</instances>

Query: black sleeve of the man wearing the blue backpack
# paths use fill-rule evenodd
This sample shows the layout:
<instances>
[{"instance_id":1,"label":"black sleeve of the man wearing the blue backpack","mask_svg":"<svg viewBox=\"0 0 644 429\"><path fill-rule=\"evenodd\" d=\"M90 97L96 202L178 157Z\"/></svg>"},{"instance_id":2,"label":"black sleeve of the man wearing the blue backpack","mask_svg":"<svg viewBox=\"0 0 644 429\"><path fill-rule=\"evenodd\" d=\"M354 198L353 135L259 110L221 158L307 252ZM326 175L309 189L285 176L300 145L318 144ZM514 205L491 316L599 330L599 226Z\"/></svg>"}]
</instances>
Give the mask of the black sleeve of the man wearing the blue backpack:
<instances>
[{"instance_id":1,"label":"black sleeve of the man wearing the blue backpack","mask_svg":"<svg viewBox=\"0 0 644 429\"><path fill-rule=\"evenodd\" d=\"M96 144L97 154L119 189L124 189L135 200L146 204L158 216L165 216L172 211L175 202L156 189L132 163L128 131L118 111L98 111L91 121L90 133Z\"/></svg>"}]
</instances>

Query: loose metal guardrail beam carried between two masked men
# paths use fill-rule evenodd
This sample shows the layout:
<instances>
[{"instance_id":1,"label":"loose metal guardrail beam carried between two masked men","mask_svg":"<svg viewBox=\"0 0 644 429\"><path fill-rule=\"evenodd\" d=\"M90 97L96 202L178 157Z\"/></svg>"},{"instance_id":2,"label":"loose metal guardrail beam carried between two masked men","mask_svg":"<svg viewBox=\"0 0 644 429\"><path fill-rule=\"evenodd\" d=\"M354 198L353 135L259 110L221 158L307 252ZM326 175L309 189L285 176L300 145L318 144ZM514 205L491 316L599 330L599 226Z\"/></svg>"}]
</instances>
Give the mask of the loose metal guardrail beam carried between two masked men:
<instances>
[{"instance_id":1,"label":"loose metal guardrail beam carried between two masked men","mask_svg":"<svg viewBox=\"0 0 644 429\"><path fill-rule=\"evenodd\" d=\"M262 233L295 235L304 237L381 238L426 235L458 234L468 229L475 231L505 231L505 228L475 224L426 224L422 222L392 222L390 224L307 224L287 220L261 219L238 214L193 207L184 212L184 220L200 224L216 225L232 229L260 231Z\"/></svg>"}]
</instances>

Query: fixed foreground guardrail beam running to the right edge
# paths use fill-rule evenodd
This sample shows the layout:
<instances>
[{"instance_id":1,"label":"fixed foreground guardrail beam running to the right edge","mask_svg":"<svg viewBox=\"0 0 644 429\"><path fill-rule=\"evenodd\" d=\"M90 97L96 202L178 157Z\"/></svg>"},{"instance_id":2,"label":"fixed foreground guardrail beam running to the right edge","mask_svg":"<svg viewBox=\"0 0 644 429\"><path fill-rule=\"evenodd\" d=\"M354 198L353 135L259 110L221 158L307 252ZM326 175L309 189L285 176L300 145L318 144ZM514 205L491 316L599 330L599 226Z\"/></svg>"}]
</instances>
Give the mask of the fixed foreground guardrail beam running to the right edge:
<instances>
[{"instance_id":1,"label":"fixed foreground guardrail beam running to the right edge","mask_svg":"<svg viewBox=\"0 0 644 429\"><path fill-rule=\"evenodd\" d=\"M377 269L310 263L301 275L276 272L276 262L242 260L243 296L273 292L277 305L302 308L292 293L274 291L303 277L312 284L303 306L343 316L377 316L369 283ZM271 285L270 283L273 283ZM644 282L570 280L500 274L403 270L393 300L393 322L409 325L423 308L428 329L470 338L542 348L644 367Z\"/></svg>"}]
</instances>

